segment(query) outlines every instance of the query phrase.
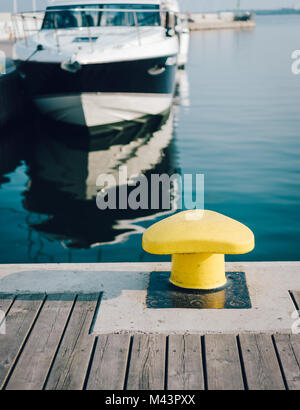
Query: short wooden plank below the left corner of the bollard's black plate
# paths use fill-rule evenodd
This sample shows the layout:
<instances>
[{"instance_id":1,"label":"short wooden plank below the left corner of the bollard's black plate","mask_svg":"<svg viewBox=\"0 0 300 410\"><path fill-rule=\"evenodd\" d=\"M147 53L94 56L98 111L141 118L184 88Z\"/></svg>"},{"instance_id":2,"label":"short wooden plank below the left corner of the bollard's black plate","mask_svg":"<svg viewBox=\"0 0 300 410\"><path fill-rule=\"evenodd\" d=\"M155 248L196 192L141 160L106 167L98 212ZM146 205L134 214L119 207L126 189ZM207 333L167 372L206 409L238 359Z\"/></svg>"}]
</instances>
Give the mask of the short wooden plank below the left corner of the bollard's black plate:
<instances>
[{"instance_id":1,"label":"short wooden plank below the left corner of the bollard's black plate","mask_svg":"<svg viewBox=\"0 0 300 410\"><path fill-rule=\"evenodd\" d=\"M166 336L137 334L133 338L127 390L163 390Z\"/></svg>"}]
</instances>

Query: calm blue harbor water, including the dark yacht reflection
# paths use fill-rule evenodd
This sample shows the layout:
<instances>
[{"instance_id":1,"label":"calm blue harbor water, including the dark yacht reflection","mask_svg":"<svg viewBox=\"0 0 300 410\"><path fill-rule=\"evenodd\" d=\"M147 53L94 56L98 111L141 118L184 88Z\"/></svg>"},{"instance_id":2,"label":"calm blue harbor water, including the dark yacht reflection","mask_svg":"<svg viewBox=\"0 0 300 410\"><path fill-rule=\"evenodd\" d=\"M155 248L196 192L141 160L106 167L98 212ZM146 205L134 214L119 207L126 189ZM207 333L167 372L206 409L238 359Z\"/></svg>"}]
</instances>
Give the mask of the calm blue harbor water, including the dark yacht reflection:
<instances>
[{"instance_id":1,"label":"calm blue harbor water, including the dark yacht reflection","mask_svg":"<svg viewBox=\"0 0 300 410\"><path fill-rule=\"evenodd\" d=\"M300 260L300 76L291 73L299 48L299 16L194 32L163 131L125 133L109 148L29 118L22 132L2 135L0 263L168 260L141 249L141 228L161 216L96 208L95 175L122 161L203 173L206 209L256 236L252 253L228 260Z\"/></svg>"}]
</instances>

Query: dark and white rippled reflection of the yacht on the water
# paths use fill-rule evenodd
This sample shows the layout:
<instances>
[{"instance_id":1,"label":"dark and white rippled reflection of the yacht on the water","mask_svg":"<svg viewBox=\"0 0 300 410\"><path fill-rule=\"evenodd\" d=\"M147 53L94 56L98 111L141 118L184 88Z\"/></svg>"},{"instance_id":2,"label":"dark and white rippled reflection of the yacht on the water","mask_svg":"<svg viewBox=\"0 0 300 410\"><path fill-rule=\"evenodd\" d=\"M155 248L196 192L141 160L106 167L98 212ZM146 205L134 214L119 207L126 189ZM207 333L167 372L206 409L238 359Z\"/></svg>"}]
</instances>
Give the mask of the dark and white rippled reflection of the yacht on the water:
<instances>
[{"instance_id":1,"label":"dark and white rippled reflection of the yacht on the water","mask_svg":"<svg viewBox=\"0 0 300 410\"><path fill-rule=\"evenodd\" d=\"M129 176L172 173L172 114L151 116L146 122L111 130L113 134L107 135L107 144L103 135L99 139L76 136L74 129L68 133L65 126L60 129L50 121L41 125L27 159L30 183L23 200L28 211L45 215L42 222L32 224L36 231L59 239L70 248L89 248L121 241L142 231L137 222L161 212L173 212L172 209L101 211L96 206L99 174L117 177L121 165L127 166Z\"/></svg>"}]
</instances>

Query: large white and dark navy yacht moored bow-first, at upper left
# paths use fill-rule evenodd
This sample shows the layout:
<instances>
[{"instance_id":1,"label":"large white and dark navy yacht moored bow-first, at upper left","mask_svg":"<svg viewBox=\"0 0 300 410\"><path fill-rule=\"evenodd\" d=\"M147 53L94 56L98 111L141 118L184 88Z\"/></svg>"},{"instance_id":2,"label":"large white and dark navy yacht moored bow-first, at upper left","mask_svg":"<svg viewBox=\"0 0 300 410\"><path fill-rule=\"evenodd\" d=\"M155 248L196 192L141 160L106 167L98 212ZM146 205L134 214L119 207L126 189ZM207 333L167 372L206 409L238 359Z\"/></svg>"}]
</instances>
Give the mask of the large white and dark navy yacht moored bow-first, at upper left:
<instances>
[{"instance_id":1,"label":"large white and dark navy yacht moored bow-first, at upper left","mask_svg":"<svg viewBox=\"0 0 300 410\"><path fill-rule=\"evenodd\" d=\"M188 36L177 0L52 1L14 58L43 114L98 129L168 111Z\"/></svg>"}]
</instances>

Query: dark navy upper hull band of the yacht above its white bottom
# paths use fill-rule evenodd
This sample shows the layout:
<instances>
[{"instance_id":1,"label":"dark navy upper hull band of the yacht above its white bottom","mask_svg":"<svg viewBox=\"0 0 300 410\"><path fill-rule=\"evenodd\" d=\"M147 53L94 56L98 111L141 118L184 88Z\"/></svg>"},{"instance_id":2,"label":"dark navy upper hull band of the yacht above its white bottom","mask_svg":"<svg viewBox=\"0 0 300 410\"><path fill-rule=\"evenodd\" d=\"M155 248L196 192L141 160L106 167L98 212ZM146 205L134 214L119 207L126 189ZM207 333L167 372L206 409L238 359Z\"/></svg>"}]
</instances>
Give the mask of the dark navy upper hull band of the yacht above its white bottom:
<instances>
[{"instance_id":1,"label":"dark navy upper hull band of the yacht above its white bottom","mask_svg":"<svg viewBox=\"0 0 300 410\"><path fill-rule=\"evenodd\" d=\"M32 96L84 92L170 94L177 66L165 64L167 60L160 57L89 64L76 73L63 70L57 63L25 62L19 64L19 69Z\"/></svg>"}]
</instances>

